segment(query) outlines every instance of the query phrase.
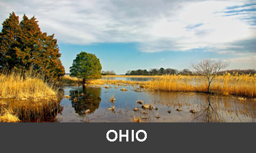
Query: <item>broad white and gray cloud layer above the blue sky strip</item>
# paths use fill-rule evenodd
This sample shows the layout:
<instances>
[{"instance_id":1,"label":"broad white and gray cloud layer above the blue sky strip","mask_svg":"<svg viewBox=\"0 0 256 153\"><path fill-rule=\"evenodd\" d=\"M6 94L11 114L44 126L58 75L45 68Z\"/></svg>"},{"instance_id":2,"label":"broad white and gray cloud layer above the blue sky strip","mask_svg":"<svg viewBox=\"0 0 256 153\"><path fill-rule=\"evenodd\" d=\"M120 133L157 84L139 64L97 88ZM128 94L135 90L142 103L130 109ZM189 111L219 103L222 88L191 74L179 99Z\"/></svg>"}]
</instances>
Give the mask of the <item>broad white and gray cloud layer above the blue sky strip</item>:
<instances>
[{"instance_id":1,"label":"broad white and gray cloud layer above the blue sky strip","mask_svg":"<svg viewBox=\"0 0 256 153\"><path fill-rule=\"evenodd\" d=\"M227 50L233 42L256 39L255 25L243 20L255 18L255 12L242 11L255 9L255 5L232 8L249 2L1 1L0 19L12 11L20 18L35 15L42 31L55 33L59 42L68 44L136 42L141 52L197 48L233 52Z\"/></svg>"}]
</instances>

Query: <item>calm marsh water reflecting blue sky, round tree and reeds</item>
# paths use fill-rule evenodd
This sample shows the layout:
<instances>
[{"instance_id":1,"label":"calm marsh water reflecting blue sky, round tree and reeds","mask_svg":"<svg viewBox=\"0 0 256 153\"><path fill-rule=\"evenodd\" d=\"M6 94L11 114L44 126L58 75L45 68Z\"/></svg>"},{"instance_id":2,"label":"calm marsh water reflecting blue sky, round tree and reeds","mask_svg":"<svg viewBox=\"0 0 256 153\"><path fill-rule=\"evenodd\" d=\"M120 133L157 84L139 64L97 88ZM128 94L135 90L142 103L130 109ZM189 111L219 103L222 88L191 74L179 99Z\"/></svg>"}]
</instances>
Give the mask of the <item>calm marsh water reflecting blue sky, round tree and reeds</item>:
<instances>
[{"instance_id":1,"label":"calm marsh water reflecting blue sky, round tree and reeds","mask_svg":"<svg viewBox=\"0 0 256 153\"><path fill-rule=\"evenodd\" d=\"M138 81L141 79L145 78L137 78ZM63 87L64 95L70 98L61 100L63 110L57 115L57 122L133 122L138 117L142 122L255 122L255 99L241 100L197 92L150 92L143 89L137 92L131 85L108 86ZM128 90L122 91L122 88ZM109 101L112 96L115 102ZM153 107L143 109L137 101ZM113 106L115 110L109 110Z\"/></svg>"}]
</instances>

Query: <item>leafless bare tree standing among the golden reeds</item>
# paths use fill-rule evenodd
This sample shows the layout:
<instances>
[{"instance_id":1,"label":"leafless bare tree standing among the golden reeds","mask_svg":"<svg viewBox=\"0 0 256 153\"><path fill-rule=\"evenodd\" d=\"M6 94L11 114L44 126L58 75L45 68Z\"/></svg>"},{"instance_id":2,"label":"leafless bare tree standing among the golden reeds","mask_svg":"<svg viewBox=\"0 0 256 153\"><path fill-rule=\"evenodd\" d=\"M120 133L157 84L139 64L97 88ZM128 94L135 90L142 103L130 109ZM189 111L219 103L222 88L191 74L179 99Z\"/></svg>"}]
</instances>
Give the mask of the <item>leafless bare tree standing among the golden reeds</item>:
<instances>
[{"instance_id":1,"label":"leafless bare tree standing among the golden reeds","mask_svg":"<svg viewBox=\"0 0 256 153\"><path fill-rule=\"evenodd\" d=\"M225 69L229 63L205 59L196 65L193 63L191 65L199 75L203 75L208 79L208 92L210 92L210 85L212 84L212 80L214 80L218 71Z\"/></svg>"}]
</instances>

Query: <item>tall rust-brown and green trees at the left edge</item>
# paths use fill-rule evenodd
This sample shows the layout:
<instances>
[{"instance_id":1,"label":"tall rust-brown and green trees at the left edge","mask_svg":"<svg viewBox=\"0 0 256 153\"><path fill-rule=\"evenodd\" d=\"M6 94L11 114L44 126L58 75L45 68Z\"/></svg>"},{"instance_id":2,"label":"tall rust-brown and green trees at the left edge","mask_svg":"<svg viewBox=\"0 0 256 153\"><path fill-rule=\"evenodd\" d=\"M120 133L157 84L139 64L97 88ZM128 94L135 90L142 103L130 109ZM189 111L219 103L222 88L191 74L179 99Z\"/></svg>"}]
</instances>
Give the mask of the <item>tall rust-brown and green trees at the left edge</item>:
<instances>
[{"instance_id":1,"label":"tall rust-brown and green trees at the left edge","mask_svg":"<svg viewBox=\"0 0 256 153\"><path fill-rule=\"evenodd\" d=\"M33 16L18 16L12 12L3 22L0 33L0 67L25 69L33 67L43 73L46 79L56 80L65 73L60 61L61 54L54 35L47 36L40 31L38 21Z\"/></svg>"}]
</instances>

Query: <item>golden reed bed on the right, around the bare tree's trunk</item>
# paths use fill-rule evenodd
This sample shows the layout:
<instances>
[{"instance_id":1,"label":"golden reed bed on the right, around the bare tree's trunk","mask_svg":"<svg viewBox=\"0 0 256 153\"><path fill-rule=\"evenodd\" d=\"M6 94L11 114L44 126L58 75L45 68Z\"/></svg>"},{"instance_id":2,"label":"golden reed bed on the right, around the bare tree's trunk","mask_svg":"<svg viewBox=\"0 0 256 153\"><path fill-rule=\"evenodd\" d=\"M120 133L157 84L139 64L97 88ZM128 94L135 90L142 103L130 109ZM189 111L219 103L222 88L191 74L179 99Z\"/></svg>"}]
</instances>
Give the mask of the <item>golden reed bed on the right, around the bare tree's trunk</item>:
<instances>
[{"instance_id":1,"label":"golden reed bed on the right, around the bare tree's trunk","mask_svg":"<svg viewBox=\"0 0 256 153\"><path fill-rule=\"evenodd\" d=\"M208 92L208 81L202 76L162 75L143 84L148 90ZM210 86L210 92L220 95L255 97L256 75L219 75Z\"/></svg>"}]
</instances>

